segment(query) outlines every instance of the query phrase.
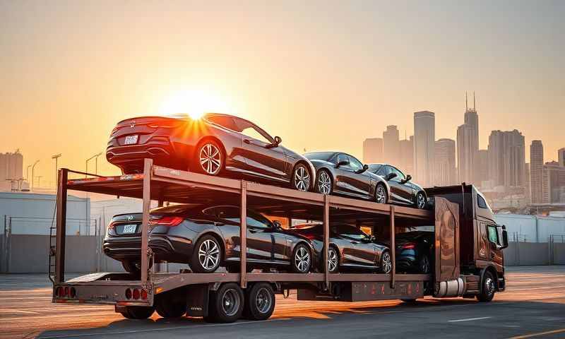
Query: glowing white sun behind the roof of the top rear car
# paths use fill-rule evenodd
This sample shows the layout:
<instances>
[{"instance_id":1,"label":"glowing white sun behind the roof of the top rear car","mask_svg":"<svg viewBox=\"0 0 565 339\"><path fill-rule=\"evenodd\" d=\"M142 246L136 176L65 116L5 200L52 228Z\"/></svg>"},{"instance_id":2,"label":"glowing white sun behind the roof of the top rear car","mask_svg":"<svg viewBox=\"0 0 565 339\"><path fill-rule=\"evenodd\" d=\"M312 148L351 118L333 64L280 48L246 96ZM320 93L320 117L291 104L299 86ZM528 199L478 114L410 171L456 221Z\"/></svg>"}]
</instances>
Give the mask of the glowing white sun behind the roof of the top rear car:
<instances>
[{"instance_id":1,"label":"glowing white sun behind the roof of the top rear car","mask_svg":"<svg viewBox=\"0 0 565 339\"><path fill-rule=\"evenodd\" d=\"M208 112L230 113L225 100L214 93L203 90L182 90L163 100L159 114L188 114L191 119L200 119Z\"/></svg>"}]
</instances>

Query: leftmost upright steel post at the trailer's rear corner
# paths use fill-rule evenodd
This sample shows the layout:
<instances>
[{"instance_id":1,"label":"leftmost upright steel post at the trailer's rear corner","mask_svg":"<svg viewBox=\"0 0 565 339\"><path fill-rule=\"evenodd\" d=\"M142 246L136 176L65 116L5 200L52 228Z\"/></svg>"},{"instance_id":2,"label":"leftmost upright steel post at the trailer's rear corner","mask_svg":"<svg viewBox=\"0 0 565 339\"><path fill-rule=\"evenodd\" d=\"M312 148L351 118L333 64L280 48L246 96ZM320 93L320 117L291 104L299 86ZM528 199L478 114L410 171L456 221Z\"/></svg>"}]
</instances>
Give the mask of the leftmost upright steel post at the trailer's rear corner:
<instances>
[{"instance_id":1,"label":"leftmost upright steel post at the trailer's rear corner","mask_svg":"<svg viewBox=\"0 0 565 339\"><path fill-rule=\"evenodd\" d=\"M66 236L66 182L69 179L69 170L59 169L59 182L57 183L57 246L55 251L55 283L65 281L65 236Z\"/></svg>"}]
</instances>

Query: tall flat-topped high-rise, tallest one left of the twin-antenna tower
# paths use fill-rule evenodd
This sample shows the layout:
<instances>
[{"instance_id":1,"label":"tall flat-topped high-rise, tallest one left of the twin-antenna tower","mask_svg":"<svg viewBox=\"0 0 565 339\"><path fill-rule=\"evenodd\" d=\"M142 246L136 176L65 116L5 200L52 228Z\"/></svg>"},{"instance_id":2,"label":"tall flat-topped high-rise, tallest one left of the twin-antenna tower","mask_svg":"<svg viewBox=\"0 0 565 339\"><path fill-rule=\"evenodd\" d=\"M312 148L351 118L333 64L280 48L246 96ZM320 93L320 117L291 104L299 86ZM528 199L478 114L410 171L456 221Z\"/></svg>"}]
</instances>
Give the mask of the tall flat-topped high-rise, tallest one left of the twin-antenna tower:
<instances>
[{"instance_id":1,"label":"tall flat-topped high-rise, tallest one left of the twin-antenna tower","mask_svg":"<svg viewBox=\"0 0 565 339\"><path fill-rule=\"evenodd\" d=\"M414 175L424 186L432 184L435 160L436 118L434 112L414 113Z\"/></svg>"}]
</instances>

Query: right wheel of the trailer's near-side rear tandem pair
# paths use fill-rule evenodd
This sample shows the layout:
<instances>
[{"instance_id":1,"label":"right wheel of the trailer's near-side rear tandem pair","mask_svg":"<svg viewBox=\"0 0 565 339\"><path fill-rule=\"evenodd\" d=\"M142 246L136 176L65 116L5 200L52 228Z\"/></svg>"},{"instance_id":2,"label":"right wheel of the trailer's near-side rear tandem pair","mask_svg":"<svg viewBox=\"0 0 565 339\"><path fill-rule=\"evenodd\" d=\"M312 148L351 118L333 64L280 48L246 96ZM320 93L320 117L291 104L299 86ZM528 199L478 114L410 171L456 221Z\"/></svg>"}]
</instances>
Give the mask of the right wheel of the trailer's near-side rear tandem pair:
<instances>
[{"instance_id":1,"label":"right wheel of the trailer's near-side rear tandem pair","mask_svg":"<svg viewBox=\"0 0 565 339\"><path fill-rule=\"evenodd\" d=\"M245 295L243 316L249 320L266 320L275 311L275 291L268 283L256 283Z\"/></svg>"}]
</instances>

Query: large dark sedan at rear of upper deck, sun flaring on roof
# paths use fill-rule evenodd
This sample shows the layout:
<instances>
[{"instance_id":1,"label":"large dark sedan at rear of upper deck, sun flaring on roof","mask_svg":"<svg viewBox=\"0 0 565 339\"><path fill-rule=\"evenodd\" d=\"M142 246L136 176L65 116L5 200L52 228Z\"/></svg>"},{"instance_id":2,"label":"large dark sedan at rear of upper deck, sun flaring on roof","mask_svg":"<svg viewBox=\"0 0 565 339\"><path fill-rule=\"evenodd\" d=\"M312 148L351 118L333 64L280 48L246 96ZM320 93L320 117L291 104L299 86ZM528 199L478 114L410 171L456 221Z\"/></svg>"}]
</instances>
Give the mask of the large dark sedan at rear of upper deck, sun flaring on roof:
<instances>
[{"instance_id":1,"label":"large dark sedan at rear of upper deck, sun flaring on roof","mask_svg":"<svg viewBox=\"0 0 565 339\"><path fill-rule=\"evenodd\" d=\"M151 158L155 165L174 169L253 177L308 191L314 167L281 142L251 121L227 114L206 114L201 119L138 117L117 124L106 158L124 174L142 172L143 159Z\"/></svg>"}]
</instances>

